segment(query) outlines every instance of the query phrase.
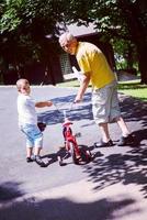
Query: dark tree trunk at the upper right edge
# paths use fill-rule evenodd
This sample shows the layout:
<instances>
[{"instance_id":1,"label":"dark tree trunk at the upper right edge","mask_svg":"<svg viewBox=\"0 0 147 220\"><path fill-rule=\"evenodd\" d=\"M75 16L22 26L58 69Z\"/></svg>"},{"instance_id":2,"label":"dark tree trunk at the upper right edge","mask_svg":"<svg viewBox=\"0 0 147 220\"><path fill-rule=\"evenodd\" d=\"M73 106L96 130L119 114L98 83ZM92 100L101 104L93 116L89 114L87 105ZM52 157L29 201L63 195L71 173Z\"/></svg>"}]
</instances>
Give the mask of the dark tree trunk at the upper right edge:
<instances>
[{"instance_id":1,"label":"dark tree trunk at the upper right edge","mask_svg":"<svg viewBox=\"0 0 147 220\"><path fill-rule=\"evenodd\" d=\"M135 44L138 54L138 68L143 84L147 84L147 29L140 21L140 12L145 6L139 8L139 1L131 3L128 0L118 0L122 14L126 19L126 24L131 34L131 41Z\"/></svg>"}]
</instances>

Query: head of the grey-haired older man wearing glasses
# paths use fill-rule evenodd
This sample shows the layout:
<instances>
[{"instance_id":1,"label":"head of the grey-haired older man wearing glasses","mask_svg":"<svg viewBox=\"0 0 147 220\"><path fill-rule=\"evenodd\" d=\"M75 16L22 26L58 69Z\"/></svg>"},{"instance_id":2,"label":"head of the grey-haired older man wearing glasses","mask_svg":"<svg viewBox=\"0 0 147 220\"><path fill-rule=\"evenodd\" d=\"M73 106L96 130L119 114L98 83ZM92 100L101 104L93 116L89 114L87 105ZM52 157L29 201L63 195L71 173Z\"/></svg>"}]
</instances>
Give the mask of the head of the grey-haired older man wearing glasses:
<instances>
[{"instance_id":1,"label":"head of the grey-haired older man wearing glasses","mask_svg":"<svg viewBox=\"0 0 147 220\"><path fill-rule=\"evenodd\" d=\"M76 54L78 42L77 38L69 32L66 32L59 36L59 44L65 52L71 55Z\"/></svg>"}]
</instances>

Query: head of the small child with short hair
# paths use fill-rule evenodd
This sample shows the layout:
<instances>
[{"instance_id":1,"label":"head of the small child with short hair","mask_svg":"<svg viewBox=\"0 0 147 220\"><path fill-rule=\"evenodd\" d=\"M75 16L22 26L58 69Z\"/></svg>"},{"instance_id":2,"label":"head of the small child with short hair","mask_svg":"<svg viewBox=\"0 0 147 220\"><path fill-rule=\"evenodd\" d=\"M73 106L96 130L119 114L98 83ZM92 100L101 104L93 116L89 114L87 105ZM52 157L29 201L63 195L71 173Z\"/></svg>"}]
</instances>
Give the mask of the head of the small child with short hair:
<instances>
[{"instance_id":1,"label":"head of the small child with short hair","mask_svg":"<svg viewBox=\"0 0 147 220\"><path fill-rule=\"evenodd\" d=\"M18 91L24 95L30 95L31 88L27 79L19 79L16 81Z\"/></svg>"}]
</instances>

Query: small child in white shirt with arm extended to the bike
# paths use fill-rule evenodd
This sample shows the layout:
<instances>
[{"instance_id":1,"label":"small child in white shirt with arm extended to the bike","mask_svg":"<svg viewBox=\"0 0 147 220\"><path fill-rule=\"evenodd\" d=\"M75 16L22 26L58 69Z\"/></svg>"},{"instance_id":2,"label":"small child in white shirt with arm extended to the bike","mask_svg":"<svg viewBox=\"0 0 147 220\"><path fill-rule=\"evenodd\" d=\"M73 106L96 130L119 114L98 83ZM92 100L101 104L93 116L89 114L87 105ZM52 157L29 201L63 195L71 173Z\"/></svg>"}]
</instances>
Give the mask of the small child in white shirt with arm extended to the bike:
<instances>
[{"instance_id":1,"label":"small child in white shirt with arm extended to the bike","mask_svg":"<svg viewBox=\"0 0 147 220\"><path fill-rule=\"evenodd\" d=\"M43 133L37 127L37 113L35 107L50 107L52 101L35 102L30 94L30 82L27 79L16 81L19 128L26 136L26 162L35 161L39 166L45 166L39 153L43 148Z\"/></svg>"}]
</instances>

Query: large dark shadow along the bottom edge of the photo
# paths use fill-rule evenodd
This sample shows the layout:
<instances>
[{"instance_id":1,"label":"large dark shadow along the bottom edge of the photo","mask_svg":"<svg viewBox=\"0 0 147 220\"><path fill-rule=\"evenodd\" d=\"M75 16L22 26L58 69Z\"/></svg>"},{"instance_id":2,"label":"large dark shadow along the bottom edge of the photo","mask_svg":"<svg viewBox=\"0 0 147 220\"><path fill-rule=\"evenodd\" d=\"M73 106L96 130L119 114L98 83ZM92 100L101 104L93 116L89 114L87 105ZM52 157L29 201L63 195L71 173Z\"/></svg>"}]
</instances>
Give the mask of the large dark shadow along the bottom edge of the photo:
<instances>
[{"instance_id":1,"label":"large dark shadow along the bottom edge of the photo","mask_svg":"<svg viewBox=\"0 0 147 220\"><path fill-rule=\"evenodd\" d=\"M113 219L114 211L133 204L133 199L112 201L104 198L94 202L75 202L66 198L39 201L30 198L0 209L0 217L1 220L105 220ZM133 212L139 210L134 208ZM126 215L123 212L122 216Z\"/></svg>"}]
</instances>

